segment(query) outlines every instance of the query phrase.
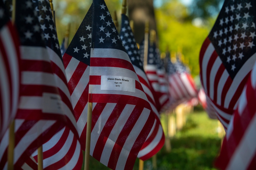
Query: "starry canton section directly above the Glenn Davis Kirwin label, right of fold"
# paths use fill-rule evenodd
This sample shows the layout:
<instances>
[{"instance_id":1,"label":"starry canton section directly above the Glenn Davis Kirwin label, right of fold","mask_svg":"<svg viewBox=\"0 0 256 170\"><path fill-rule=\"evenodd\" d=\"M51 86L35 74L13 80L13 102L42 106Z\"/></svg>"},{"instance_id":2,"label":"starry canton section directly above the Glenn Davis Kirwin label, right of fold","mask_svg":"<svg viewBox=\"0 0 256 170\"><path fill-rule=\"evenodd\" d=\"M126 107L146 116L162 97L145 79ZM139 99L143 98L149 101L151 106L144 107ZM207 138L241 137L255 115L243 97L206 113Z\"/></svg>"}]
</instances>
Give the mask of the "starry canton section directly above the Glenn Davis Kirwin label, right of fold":
<instances>
[{"instance_id":1,"label":"starry canton section directly above the Glenn Davis Kirwin label, right of fold","mask_svg":"<svg viewBox=\"0 0 256 170\"><path fill-rule=\"evenodd\" d=\"M113 48L125 51L124 44L104 0L93 0L92 48Z\"/></svg>"}]
</instances>

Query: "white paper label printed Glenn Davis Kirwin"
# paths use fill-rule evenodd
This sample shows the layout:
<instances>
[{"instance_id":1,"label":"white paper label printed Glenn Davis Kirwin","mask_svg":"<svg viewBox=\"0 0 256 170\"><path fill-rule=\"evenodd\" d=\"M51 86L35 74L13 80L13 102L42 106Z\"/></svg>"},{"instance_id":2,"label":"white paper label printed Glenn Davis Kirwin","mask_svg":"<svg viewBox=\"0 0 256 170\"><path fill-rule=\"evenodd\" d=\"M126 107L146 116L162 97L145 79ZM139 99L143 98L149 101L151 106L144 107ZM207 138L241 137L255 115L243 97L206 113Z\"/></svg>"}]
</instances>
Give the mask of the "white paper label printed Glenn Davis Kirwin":
<instances>
[{"instance_id":1,"label":"white paper label printed Glenn Davis Kirwin","mask_svg":"<svg viewBox=\"0 0 256 170\"><path fill-rule=\"evenodd\" d=\"M101 90L119 90L135 93L135 80L121 76L101 76Z\"/></svg>"}]
</instances>

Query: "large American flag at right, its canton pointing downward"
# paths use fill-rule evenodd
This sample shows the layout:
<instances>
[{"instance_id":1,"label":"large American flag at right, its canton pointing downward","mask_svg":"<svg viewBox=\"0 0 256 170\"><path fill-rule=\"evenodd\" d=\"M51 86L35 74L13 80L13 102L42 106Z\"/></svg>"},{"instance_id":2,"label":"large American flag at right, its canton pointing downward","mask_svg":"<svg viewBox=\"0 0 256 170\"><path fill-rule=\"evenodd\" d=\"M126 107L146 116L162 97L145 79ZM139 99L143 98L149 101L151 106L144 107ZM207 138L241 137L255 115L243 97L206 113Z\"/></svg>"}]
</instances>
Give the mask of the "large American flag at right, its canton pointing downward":
<instances>
[{"instance_id":1,"label":"large American flag at right, its canton pointing downward","mask_svg":"<svg viewBox=\"0 0 256 170\"><path fill-rule=\"evenodd\" d=\"M224 2L199 57L200 79L227 129L255 57L254 1Z\"/></svg>"}]
</instances>

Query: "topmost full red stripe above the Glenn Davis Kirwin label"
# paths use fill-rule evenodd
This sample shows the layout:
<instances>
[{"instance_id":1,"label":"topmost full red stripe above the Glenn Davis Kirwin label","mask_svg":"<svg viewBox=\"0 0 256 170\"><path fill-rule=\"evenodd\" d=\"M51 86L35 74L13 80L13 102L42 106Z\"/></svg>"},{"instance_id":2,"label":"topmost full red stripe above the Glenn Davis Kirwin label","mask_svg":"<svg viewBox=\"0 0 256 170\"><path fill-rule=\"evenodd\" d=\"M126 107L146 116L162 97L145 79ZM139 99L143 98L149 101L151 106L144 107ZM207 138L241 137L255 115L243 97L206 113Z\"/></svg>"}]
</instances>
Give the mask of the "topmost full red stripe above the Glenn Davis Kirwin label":
<instances>
[{"instance_id":1,"label":"topmost full red stripe above the Glenn Davis Kirwin label","mask_svg":"<svg viewBox=\"0 0 256 170\"><path fill-rule=\"evenodd\" d=\"M113 67L113 68L124 68L134 71L131 62L119 58L97 58L93 57L90 61L91 67ZM135 71L134 71L135 72Z\"/></svg>"}]
</instances>

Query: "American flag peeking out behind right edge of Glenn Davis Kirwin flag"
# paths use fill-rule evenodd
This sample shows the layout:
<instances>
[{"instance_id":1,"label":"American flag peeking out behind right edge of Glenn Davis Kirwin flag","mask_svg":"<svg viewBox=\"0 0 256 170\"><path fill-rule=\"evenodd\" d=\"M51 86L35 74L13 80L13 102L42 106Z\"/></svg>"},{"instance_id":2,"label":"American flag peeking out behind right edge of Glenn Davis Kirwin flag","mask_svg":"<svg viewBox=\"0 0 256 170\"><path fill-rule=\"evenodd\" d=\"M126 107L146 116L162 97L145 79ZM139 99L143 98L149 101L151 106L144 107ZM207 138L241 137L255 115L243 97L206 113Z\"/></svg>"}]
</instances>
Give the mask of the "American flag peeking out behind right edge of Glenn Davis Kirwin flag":
<instances>
[{"instance_id":1,"label":"American flag peeking out behind right edge of Glenn Davis Kirwin flag","mask_svg":"<svg viewBox=\"0 0 256 170\"><path fill-rule=\"evenodd\" d=\"M138 53L138 48L129 24L129 18L124 14L122 14L120 38L133 64L133 68L140 80L140 83L147 96L150 106L153 112L155 113L154 125L137 156L138 158L144 161L152 157L163 147L165 137L161 122L159 120L159 113L156 109L155 99L152 93L153 89L149 84L147 76L144 72L143 62Z\"/></svg>"}]
</instances>

